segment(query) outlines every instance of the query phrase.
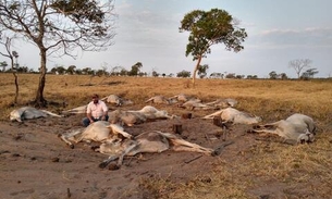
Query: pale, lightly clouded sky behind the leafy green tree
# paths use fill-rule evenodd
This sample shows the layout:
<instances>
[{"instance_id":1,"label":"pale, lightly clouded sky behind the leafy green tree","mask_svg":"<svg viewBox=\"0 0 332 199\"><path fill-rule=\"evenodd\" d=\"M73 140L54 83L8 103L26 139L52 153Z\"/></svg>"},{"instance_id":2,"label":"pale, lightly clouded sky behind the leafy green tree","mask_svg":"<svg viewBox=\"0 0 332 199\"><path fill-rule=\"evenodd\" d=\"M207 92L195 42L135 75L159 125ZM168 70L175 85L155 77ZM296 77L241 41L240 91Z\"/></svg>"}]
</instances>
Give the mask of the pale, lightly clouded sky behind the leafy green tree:
<instances>
[{"instance_id":1,"label":"pale, lightly clouded sky behind the leafy green tree","mask_svg":"<svg viewBox=\"0 0 332 199\"><path fill-rule=\"evenodd\" d=\"M114 66L131 70L137 62L143 72L152 70L167 75L185 70L193 74L196 62L185 57L188 33L180 33L180 22L193 10L222 9L241 21L248 34L244 50L226 51L223 43L213 46L201 64L208 74L235 73L269 77L286 73L296 77L288 62L309 59L319 71L316 77L332 76L332 1L331 0L115 0L116 36L103 52L78 52L72 58L48 60L47 67L76 65L99 70ZM38 69L38 50L22 45L20 64Z\"/></svg>"}]
</instances>

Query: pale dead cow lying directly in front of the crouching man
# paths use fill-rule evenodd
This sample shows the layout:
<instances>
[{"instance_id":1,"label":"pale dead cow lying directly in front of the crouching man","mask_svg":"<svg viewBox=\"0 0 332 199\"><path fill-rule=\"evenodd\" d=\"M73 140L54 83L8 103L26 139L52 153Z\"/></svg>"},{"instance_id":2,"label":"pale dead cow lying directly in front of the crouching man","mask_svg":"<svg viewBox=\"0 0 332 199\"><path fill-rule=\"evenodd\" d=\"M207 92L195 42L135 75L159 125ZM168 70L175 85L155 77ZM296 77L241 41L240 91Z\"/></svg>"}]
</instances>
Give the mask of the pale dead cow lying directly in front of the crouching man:
<instances>
[{"instance_id":1,"label":"pale dead cow lying directly in front of the crouching man","mask_svg":"<svg viewBox=\"0 0 332 199\"><path fill-rule=\"evenodd\" d=\"M66 142L71 148L74 148L74 144L81 141L104 141L104 140L113 140L118 139L118 135L122 135L123 137L131 138L132 135L124 132L122 126L116 124L110 124L106 121L94 122L87 127L83 127L70 133L65 133L59 135L59 137ZM74 142L74 144L73 144Z\"/></svg>"}]
</instances>

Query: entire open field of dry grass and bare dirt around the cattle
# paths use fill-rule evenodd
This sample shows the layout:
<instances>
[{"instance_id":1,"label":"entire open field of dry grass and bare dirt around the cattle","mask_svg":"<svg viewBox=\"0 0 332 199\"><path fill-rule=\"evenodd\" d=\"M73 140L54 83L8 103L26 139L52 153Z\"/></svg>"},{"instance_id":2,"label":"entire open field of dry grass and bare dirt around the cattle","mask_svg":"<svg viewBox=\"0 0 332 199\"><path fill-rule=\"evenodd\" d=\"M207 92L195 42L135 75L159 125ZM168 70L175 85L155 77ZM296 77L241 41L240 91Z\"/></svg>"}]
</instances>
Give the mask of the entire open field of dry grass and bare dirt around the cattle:
<instances>
[{"instance_id":1,"label":"entire open field of dry grass and bare dirt around the cattle","mask_svg":"<svg viewBox=\"0 0 332 199\"><path fill-rule=\"evenodd\" d=\"M17 107L34 100L38 78L38 74L19 74ZM186 78L47 75L44 95L52 102L46 109L56 113L87 104L94 92L101 98L114 94L131 99L133 105L120 109L135 110L157 95L187 94L204 102L233 98L238 101L236 109L261 116L262 123L293 113L311 116L318 126L316 141L287 145L274 136L248 134L251 126L235 125L228 138L234 144L218 157L195 159L197 154L168 151L126 160L116 171L101 170L97 165L104 156L84 145L69 149L57 138L79 126L84 115L9 122L15 109L14 77L1 73L0 198L331 198L331 79L197 79L195 87L190 83ZM216 136L221 129L200 119L214 111L155 107L176 115L193 113L192 120L176 121L184 127L185 139L205 147L223 142ZM125 130L168 130L172 124L155 121Z\"/></svg>"}]
</instances>

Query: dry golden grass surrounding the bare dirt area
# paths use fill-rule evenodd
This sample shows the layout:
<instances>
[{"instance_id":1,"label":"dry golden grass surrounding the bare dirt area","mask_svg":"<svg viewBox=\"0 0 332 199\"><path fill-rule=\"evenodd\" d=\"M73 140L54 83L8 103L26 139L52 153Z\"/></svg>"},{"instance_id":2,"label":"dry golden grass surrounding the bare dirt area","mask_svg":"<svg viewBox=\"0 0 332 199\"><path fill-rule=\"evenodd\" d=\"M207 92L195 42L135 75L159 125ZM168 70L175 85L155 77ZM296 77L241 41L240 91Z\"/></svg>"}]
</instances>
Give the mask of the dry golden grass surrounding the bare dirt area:
<instances>
[{"instance_id":1,"label":"dry golden grass surrounding the bare dirt area","mask_svg":"<svg viewBox=\"0 0 332 199\"><path fill-rule=\"evenodd\" d=\"M19 74L20 107L34 99L38 77L39 75L35 74ZM13 75L0 74L0 87L1 123L11 125L8 114L14 109L11 107L15 92ZM134 101L132 108L146 105L145 100L156 95L171 97L183 92L194 95L202 101L234 98L239 102L236 109L261 116L263 123L285 119L293 113L307 114L317 122L318 134L313 144L291 146L278 139L255 139L255 144L229 159L221 154L209 171L189 179L173 181L171 177L158 176L139 178L139 189L144 192L140 198L297 199L332 196L331 80L197 79L193 88L190 79L184 78L90 79L84 75L47 75L45 98L59 104L67 104L66 108L50 104L47 109L52 112L60 113L62 110L86 104L93 92L101 97L115 94L131 99ZM176 114L185 112L175 107L157 107ZM198 111L194 115L202 116L209 113L211 112ZM4 161L3 156L0 153L1 161ZM0 177L3 175L3 165L2 162ZM36 195L29 198L42 198ZM99 198L108 198L110 194L102 196L99 195ZM72 198L75 198L74 195ZM131 195L131 198L135 197Z\"/></svg>"}]
</instances>

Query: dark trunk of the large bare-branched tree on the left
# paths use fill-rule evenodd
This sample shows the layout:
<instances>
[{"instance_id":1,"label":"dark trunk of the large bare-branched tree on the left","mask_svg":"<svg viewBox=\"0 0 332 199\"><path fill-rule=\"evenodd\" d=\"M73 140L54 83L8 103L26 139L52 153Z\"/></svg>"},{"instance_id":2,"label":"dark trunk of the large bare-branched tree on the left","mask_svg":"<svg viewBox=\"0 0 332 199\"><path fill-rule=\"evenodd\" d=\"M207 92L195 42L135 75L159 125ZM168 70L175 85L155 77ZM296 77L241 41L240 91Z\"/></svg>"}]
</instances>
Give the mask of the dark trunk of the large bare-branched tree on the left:
<instances>
[{"instance_id":1,"label":"dark trunk of the large bare-branched tree on the left","mask_svg":"<svg viewBox=\"0 0 332 199\"><path fill-rule=\"evenodd\" d=\"M47 101L44 98L44 88L46 82L46 50L40 50L40 76L38 89L35 98L35 105L37 107L46 107Z\"/></svg>"}]
</instances>

